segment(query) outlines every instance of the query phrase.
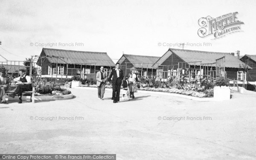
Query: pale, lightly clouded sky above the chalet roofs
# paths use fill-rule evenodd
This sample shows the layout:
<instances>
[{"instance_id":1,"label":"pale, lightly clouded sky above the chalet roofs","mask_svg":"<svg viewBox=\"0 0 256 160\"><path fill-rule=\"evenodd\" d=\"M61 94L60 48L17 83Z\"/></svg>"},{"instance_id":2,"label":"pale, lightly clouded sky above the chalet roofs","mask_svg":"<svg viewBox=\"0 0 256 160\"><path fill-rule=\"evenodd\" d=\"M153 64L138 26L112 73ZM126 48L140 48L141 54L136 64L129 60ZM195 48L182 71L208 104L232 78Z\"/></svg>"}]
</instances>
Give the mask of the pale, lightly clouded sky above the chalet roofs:
<instances>
[{"instance_id":1,"label":"pale, lightly clouded sky above the chalet roofs","mask_svg":"<svg viewBox=\"0 0 256 160\"><path fill-rule=\"evenodd\" d=\"M107 52L116 62L123 53L162 56L179 43L255 55L255 8L256 0L0 0L0 55L23 61L45 47ZM230 12L239 13L243 32L198 36L201 17Z\"/></svg>"}]
</instances>

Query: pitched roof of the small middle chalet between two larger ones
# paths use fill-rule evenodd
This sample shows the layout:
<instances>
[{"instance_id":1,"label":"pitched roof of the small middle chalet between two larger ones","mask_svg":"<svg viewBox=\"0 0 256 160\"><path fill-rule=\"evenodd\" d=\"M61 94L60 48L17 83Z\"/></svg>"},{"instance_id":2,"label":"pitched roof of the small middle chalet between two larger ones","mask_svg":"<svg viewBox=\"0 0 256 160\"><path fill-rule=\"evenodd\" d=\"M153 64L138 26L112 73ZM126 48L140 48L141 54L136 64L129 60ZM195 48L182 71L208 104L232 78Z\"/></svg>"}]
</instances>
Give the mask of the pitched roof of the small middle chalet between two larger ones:
<instances>
[{"instance_id":1,"label":"pitched roof of the small middle chalet between two larger ones","mask_svg":"<svg viewBox=\"0 0 256 160\"><path fill-rule=\"evenodd\" d=\"M160 57L123 54L118 62L121 64L125 58L127 58L135 68L151 68Z\"/></svg>"}]
</instances>

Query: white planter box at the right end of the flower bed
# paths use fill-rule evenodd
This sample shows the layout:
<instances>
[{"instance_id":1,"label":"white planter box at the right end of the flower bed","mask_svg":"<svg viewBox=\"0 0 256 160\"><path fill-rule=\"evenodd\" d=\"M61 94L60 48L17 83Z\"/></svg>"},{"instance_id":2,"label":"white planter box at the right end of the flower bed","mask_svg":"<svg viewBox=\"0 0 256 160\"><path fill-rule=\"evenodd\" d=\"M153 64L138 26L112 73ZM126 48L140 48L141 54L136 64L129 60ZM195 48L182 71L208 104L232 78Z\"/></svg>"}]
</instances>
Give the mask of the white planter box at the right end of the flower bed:
<instances>
[{"instance_id":1,"label":"white planter box at the right end of the flower bed","mask_svg":"<svg viewBox=\"0 0 256 160\"><path fill-rule=\"evenodd\" d=\"M213 89L213 98L215 100L230 99L230 88L227 86L215 86Z\"/></svg>"}]
</instances>

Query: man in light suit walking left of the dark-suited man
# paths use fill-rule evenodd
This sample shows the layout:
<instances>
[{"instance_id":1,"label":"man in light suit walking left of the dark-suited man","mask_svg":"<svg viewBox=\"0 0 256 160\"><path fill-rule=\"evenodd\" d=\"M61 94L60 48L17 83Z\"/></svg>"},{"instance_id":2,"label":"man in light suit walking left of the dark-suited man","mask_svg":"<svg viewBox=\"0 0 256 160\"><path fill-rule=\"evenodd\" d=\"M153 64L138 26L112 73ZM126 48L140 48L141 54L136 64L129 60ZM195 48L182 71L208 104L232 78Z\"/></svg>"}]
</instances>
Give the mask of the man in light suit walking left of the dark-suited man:
<instances>
[{"instance_id":1,"label":"man in light suit walking left of the dark-suited man","mask_svg":"<svg viewBox=\"0 0 256 160\"><path fill-rule=\"evenodd\" d=\"M107 73L103 70L103 66L100 67L100 71L96 74L97 87L98 87L98 97L103 100L105 93L105 82L107 81Z\"/></svg>"}]
</instances>

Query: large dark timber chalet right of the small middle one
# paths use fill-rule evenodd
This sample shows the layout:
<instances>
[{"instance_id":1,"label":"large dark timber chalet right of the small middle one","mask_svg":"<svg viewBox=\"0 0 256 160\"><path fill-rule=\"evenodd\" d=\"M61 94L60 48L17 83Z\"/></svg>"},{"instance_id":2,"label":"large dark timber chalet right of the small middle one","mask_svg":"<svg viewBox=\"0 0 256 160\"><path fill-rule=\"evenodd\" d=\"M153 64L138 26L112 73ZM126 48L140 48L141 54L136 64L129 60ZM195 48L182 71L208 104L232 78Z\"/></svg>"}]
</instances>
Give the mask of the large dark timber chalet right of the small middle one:
<instances>
[{"instance_id":1,"label":"large dark timber chalet right of the small middle one","mask_svg":"<svg viewBox=\"0 0 256 160\"><path fill-rule=\"evenodd\" d=\"M223 58L224 57L224 58ZM218 64L216 60L219 59ZM216 67L223 67L221 73L216 75ZM157 69L157 76L160 79L168 79L170 76L177 76L180 72L186 77L195 77L202 75L207 76L223 76L228 79L243 80L243 67L247 66L233 54L225 52L205 52L185 49L171 49L159 58L153 65ZM248 69L252 69L248 66ZM177 71L179 70L179 71ZM225 71L225 74L224 74Z\"/></svg>"}]
</instances>

